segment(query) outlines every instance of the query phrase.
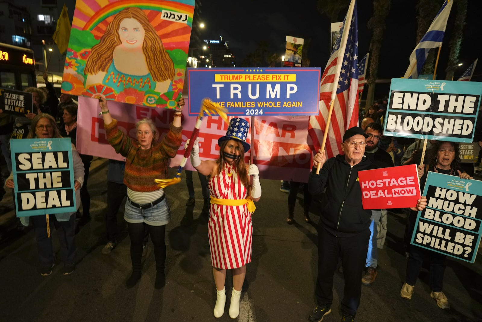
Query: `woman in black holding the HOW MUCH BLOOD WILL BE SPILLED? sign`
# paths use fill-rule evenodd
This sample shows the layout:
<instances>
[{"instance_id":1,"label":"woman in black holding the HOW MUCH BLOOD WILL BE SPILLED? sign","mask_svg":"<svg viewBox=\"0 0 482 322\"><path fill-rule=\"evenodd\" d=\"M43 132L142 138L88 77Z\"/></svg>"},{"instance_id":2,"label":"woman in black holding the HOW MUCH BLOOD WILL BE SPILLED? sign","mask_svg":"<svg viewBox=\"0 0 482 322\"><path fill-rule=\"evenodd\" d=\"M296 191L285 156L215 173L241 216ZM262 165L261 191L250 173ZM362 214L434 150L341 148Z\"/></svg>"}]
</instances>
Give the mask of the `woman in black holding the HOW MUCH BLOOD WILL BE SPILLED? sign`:
<instances>
[{"instance_id":1,"label":"woman in black holding the HOW MUCH BLOOD WILL BE SPILLED? sign","mask_svg":"<svg viewBox=\"0 0 482 322\"><path fill-rule=\"evenodd\" d=\"M430 154L428 156L428 166L426 166L426 168L424 168L424 165L418 166L418 176L421 177L420 191L424 190L428 171L458 176L461 179L472 179L469 174L463 172L463 170L461 170L459 167L459 152L459 145L456 142L436 141L432 145ZM409 238L411 238L413 234L416 217L417 212L411 210L408 215L406 231L406 234ZM429 287L432 290L430 297L437 301L439 308L449 309L449 301L442 292L443 273L445 271L445 255L438 252L432 252L412 244L409 246L406 278L405 283L402 285L402 290L400 290L400 296L407 300L412 299L415 282L426 257L430 258Z\"/></svg>"}]
</instances>

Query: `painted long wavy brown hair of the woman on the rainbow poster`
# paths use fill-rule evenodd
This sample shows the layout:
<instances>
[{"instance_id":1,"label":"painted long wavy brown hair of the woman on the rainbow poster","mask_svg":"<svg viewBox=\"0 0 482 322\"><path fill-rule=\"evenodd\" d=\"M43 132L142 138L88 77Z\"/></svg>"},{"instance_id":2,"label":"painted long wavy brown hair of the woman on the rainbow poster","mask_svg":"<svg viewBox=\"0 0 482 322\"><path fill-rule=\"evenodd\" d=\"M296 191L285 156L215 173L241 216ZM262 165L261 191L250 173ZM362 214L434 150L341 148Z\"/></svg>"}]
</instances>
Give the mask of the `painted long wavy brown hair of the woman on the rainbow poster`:
<instances>
[{"instance_id":1,"label":"painted long wavy brown hair of the woman on the rainbow poster","mask_svg":"<svg viewBox=\"0 0 482 322\"><path fill-rule=\"evenodd\" d=\"M120 45L119 26L124 19L134 18L142 28L145 36L142 43L142 52L146 57L147 68L152 79L163 82L174 79L174 63L167 54L161 39L147 19L147 15L139 8L128 7L120 11L107 26L106 32L100 42L92 47L91 55L85 62L85 74L97 74L99 71L107 72L112 63L114 48Z\"/></svg>"}]
</instances>

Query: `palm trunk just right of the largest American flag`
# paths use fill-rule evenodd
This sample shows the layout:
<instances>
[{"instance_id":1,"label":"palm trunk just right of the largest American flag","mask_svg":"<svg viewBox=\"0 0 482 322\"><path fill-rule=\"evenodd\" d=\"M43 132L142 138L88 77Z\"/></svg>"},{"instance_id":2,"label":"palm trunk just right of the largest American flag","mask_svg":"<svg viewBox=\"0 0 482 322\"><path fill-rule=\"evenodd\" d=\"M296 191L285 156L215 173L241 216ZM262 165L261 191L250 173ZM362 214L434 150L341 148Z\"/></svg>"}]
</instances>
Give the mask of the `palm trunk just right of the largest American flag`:
<instances>
[{"instance_id":1,"label":"palm trunk just right of the largest American flag","mask_svg":"<svg viewBox=\"0 0 482 322\"><path fill-rule=\"evenodd\" d=\"M388 12L390 11L391 0L374 0L373 16L368 20L368 28L373 29L372 41L370 42L370 76L367 79L368 94L366 106L373 103L375 93L375 81L378 73L380 59L380 48L382 47L383 31L385 30Z\"/></svg>"}]
</instances>

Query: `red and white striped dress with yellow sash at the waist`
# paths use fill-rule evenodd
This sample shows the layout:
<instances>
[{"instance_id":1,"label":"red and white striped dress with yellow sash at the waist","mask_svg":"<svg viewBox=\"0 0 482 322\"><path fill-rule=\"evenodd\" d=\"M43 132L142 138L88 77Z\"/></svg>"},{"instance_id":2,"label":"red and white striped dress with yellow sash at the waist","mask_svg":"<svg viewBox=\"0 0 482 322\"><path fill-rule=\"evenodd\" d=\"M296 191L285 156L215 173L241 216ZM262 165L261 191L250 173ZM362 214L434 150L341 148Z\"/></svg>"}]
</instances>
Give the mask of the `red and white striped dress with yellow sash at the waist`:
<instances>
[{"instance_id":1,"label":"red and white striped dress with yellow sash at the waist","mask_svg":"<svg viewBox=\"0 0 482 322\"><path fill-rule=\"evenodd\" d=\"M218 199L244 199L247 194L246 187L229 165L209 180L209 190L211 196ZM248 206L211 204L209 212L209 248L213 266L233 269L250 263L253 225Z\"/></svg>"}]
</instances>

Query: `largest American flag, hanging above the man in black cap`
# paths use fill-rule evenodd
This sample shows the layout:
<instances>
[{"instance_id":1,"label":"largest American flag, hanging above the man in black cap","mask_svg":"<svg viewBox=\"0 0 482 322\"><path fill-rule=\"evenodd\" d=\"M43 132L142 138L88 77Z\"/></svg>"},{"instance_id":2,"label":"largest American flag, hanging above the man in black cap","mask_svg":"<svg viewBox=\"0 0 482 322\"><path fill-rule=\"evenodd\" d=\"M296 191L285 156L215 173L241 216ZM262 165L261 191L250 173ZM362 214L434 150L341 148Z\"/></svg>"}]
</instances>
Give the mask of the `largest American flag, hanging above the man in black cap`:
<instances>
[{"instance_id":1,"label":"largest American flag, hanging above the man in black cap","mask_svg":"<svg viewBox=\"0 0 482 322\"><path fill-rule=\"evenodd\" d=\"M330 101L334 100L328 129ZM351 0L332 54L321 76L319 114L309 117L308 133L315 151L321 149L323 131L328 157L339 154L345 131L358 125L358 18L356 0Z\"/></svg>"}]
</instances>

